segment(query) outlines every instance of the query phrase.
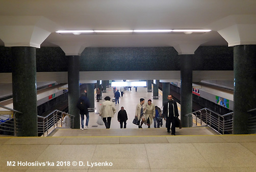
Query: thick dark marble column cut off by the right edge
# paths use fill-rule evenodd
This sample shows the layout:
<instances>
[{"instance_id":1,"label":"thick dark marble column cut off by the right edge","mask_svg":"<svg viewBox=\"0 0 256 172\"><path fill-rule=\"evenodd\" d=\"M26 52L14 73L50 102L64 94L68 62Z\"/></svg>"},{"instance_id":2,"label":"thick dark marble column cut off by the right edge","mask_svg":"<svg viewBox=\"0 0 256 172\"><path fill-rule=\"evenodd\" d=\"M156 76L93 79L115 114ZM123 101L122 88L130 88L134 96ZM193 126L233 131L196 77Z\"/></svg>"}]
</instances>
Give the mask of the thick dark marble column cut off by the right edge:
<instances>
[{"instance_id":1,"label":"thick dark marble column cut off by the right edge","mask_svg":"<svg viewBox=\"0 0 256 172\"><path fill-rule=\"evenodd\" d=\"M250 109L256 107L256 45L234 47L234 134L248 134Z\"/></svg>"}]
</instances>

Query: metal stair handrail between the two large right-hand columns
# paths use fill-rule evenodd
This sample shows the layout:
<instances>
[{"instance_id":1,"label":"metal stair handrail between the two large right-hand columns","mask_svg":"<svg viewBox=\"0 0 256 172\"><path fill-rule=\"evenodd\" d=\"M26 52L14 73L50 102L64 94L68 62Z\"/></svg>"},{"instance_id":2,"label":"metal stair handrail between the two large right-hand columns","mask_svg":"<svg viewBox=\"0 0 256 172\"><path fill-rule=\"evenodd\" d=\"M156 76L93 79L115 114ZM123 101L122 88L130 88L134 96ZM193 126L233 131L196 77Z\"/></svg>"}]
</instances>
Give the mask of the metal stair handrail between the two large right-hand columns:
<instances>
[{"instance_id":1,"label":"metal stair handrail between the two large right-hand columns","mask_svg":"<svg viewBox=\"0 0 256 172\"><path fill-rule=\"evenodd\" d=\"M185 116L188 117L189 115L193 115L192 121L188 120L188 126L193 126L194 120L195 126L197 126L198 124L207 125L213 128L215 131L219 132L220 134L225 134L230 132L233 133L233 114L234 112L230 112L221 115L219 113L214 112L211 109L202 108L192 113L188 113ZM231 119L228 119L228 116L231 116Z\"/></svg>"}]
</instances>

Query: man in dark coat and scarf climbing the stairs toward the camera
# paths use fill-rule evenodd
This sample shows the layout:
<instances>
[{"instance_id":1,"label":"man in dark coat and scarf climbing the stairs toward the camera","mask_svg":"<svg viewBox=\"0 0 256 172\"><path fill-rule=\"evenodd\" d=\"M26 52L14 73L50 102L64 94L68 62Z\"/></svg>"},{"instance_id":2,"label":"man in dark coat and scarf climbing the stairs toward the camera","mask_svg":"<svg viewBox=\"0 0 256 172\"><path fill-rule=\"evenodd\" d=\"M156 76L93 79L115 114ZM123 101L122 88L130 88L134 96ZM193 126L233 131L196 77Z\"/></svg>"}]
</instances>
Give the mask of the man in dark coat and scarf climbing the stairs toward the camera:
<instances>
[{"instance_id":1,"label":"man in dark coat and scarf climbing the stairs toward the camera","mask_svg":"<svg viewBox=\"0 0 256 172\"><path fill-rule=\"evenodd\" d=\"M165 102L163 107L163 116L166 120L167 132L170 133L171 129L171 135L175 135L175 118L178 117L177 102L172 99L172 95L168 95L167 99L168 102Z\"/></svg>"}]
</instances>

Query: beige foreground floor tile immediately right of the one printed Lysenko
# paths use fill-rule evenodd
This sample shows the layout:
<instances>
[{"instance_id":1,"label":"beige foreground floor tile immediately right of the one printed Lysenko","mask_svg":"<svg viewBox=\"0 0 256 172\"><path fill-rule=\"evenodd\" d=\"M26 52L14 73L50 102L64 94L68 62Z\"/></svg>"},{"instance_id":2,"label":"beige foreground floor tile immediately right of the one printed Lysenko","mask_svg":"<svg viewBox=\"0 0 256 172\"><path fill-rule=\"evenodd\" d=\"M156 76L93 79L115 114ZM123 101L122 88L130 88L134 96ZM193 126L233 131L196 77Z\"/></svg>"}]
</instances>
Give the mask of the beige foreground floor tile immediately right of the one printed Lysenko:
<instances>
[{"instance_id":1,"label":"beige foreground floor tile immediately right of the one printed Lysenko","mask_svg":"<svg viewBox=\"0 0 256 172\"><path fill-rule=\"evenodd\" d=\"M209 168L192 144L145 144L150 168ZM168 158L166 158L168 157Z\"/></svg>"}]
</instances>

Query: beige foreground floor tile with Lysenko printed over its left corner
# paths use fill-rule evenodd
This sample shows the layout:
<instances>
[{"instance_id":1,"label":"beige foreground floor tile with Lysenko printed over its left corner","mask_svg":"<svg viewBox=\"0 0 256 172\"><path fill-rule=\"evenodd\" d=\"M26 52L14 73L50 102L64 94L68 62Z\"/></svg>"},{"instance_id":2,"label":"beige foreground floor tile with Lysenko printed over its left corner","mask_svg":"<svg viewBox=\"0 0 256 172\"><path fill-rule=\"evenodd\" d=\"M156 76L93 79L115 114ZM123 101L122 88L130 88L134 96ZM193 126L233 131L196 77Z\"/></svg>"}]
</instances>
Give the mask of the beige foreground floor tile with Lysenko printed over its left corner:
<instances>
[{"instance_id":1,"label":"beige foreground floor tile with Lysenko printed over its left corner","mask_svg":"<svg viewBox=\"0 0 256 172\"><path fill-rule=\"evenodd\" d=\"M97 145L91 162L106 161L113 165L95 166L93 169L149 169L144 144Z\"/></svg>"}]
</instances>

